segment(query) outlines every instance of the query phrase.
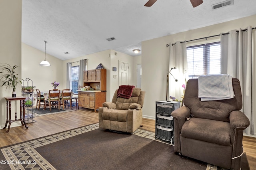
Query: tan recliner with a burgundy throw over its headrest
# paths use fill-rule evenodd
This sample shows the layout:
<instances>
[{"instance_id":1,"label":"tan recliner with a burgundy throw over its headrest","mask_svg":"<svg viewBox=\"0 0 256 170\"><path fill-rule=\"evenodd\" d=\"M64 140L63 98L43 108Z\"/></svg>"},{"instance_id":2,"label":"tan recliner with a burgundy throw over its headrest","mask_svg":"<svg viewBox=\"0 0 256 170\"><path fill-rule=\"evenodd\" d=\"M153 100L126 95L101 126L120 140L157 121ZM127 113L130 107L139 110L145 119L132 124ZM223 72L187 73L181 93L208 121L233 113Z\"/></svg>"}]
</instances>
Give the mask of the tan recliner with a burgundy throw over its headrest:
<instances>
[{"instance_id":1,"label":"tan recliner with a burgundy throw over its headrest","mask_svg":"<svg viewBox=\"0 0 256 170\"><path fill-rule=\"evenodd\" d=\"M132 97L117 97L115 91L112 102L103 103L99 108L99 127L120 132L133 133L142 123L142 107L145 91L134 88Z\"/></svg>"}]
</instances>

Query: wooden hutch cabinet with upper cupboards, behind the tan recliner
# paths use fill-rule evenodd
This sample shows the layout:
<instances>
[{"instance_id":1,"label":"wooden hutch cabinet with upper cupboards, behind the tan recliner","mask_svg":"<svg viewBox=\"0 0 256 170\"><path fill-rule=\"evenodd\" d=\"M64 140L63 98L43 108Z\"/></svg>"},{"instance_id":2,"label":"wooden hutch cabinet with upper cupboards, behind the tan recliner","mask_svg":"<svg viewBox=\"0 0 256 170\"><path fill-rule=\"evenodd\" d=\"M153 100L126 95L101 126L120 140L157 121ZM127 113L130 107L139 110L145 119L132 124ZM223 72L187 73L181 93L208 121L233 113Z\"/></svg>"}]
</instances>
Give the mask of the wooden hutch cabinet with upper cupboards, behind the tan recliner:
<instances>
[{"instance_id":1,"label":"wooden hutch cabinet with upper cupboards, behind the tan recliner","mask_svg":"<svg viewBox=\"0 0 256 170\"><path fill-rule=\"evenodd\" d=\"M94 90L79 90L78 106L94 109L94 112L102 107L102 103L106 101L106 80L106 69L84 71L83 87L90 86Z\"/></svg>"}]
</instances>

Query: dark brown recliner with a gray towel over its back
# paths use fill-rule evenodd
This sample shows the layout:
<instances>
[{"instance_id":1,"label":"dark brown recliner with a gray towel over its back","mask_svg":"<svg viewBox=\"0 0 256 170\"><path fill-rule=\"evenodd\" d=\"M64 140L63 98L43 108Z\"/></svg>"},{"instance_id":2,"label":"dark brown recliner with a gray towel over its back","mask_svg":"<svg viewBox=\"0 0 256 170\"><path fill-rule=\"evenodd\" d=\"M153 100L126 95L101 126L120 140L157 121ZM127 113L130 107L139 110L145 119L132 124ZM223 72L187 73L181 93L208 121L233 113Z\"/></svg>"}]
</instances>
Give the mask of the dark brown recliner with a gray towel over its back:
<instances>
[{"instance_id":1,"label":"dark brown recliner with a gray towel over its back","mask_svg":"<svg viewBox=\"0 0 256 170\"><path fill-rule=\"evenodd\" d=\"M172 112L174 150L223 168L240 170L243 130L250 125L242 109L240 82L232 78L234 98L201 101L198 79L189 79L184 105ZM186 118L190 120L186 121ZM234 159L232 159L234 158Z\"/></svg>"}]
</instances>

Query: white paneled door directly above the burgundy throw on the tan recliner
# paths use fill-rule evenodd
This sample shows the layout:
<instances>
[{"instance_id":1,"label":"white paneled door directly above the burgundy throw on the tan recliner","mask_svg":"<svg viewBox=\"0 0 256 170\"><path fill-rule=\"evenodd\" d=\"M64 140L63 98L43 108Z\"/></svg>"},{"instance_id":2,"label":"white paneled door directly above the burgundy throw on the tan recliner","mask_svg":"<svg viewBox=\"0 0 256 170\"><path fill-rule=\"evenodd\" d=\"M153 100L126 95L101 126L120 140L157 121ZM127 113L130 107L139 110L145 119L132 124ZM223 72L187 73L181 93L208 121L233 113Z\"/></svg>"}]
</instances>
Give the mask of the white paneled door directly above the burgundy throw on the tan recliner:
<instances>
[{"instance_id":1,"label":"white paneled door directly above the burgundy throw on the tan recliner","mask_svg":"<svg viewBox=\"0 0 256 170\"><path fill-rule=\"evenodd\" d=\"M119 61L118 85L129 85L129 64Z\"/></svg>"}]
</instances>

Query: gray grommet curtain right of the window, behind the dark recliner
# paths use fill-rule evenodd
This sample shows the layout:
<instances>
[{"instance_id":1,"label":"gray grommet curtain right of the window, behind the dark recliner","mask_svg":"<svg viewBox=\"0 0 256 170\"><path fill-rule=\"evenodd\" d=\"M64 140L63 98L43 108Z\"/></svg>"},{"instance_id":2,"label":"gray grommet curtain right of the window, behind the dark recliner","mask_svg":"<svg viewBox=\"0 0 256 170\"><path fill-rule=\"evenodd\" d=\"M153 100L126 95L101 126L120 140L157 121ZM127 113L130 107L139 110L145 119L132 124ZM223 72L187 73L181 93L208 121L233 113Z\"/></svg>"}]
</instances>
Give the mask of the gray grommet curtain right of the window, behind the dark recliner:
<instances>
[{"instance_id":1,"label":"gray grommet curtain right of the window, behind the dark recliner","mask_svg":"<svg viewBox=\"0 0 256 170\"><path fill-rule=\"evenodd\" d=\"M254 40L255 41L255 40ZM240 81L243 107L241 111L250 120L250 127L245 133L255 135L256 93L255 93L255 59L252 57L252 29L247 31L231 30L229 34L221 34L221 73L230 74Z\"/></svg>"}]
</instances>

